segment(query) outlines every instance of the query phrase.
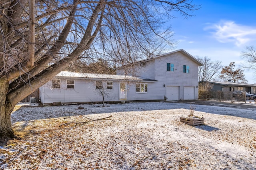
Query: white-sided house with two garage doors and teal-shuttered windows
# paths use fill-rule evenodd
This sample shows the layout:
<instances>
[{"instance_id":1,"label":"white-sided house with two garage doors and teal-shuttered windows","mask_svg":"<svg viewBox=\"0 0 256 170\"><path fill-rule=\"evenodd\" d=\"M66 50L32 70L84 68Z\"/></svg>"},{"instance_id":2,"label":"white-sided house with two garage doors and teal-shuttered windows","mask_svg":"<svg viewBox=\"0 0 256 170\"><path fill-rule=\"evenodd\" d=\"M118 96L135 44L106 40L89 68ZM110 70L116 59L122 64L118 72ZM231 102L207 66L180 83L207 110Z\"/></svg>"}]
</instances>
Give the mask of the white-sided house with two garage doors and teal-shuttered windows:
<instances>
[{"instance_id":1,"label":"white-sided house with two garage doors and teal-shuttered windows","mask_svg":"<svg viewBox=\"0 0 256 170\"><path fill-rule=\"evenodd\" d=\"M60 72L39 88L42 104L197 100L197 59L183 49L116 68L117 75Z\"/></svg>"}]
</instances>

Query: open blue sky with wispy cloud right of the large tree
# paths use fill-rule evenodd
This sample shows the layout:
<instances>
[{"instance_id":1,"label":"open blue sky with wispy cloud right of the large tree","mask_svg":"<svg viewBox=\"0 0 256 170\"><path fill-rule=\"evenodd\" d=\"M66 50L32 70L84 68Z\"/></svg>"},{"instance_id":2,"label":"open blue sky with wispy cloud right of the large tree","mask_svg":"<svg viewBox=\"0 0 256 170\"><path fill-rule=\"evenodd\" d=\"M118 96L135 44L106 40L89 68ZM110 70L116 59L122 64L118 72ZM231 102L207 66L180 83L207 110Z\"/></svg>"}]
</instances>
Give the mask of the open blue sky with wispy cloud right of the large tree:
<instances>
[{"instance_id":1,"label":"open blue sky with wispy cloud right of the large tree","mask_svg":"<svg viewBox=\"0 0 256 170\"><path fill-rule=\"evenodd\" d=\"M222 61L223 66L235 62L246 46L256 46L256 0L193 0L201 5L192 17L177 16L170 21L176 49L184 49L193 56ZM244 69L248 83L256 83L253 70Z\"/></svg>"}]
</instances>

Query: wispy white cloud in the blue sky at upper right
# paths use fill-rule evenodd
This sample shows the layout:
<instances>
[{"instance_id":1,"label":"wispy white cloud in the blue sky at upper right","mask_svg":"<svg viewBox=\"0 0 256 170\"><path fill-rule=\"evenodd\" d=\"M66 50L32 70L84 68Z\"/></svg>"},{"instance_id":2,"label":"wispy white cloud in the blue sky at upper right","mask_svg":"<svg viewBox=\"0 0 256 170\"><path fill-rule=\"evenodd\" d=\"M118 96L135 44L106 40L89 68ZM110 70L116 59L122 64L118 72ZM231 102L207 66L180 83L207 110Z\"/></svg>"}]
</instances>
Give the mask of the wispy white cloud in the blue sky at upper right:
<instances>
[{"instance_id":1,"label":"wispy white cloud in the blue sky at upper right","mask_svg":"<svg viewBox=\"0 0 256 170\"><path fill-rule=\"evenodd\" d=\"M238 47L256 39L256 27L239 25L234 21L220 21L204 28L208 29L214 30L212 34L219 42L235 43Z\"/></svg>"}]
</instances>

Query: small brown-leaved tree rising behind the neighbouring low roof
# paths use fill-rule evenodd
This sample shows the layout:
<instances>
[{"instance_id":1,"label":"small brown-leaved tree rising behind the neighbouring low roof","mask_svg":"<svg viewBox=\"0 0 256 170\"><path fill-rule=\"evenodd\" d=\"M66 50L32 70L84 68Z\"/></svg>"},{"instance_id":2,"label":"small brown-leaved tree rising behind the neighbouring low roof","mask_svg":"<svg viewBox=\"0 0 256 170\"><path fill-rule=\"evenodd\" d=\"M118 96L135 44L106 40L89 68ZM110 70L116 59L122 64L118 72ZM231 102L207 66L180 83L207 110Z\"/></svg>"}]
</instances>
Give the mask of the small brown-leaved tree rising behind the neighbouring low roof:
<instances>
[{"instance_id":1,"label":"small brown-leaved tree rising behind the neighbouring low roof","mask_svg":"<svg viewBox=\"0 0 256 170\"><path fill-rule=\"evenodd\" d=\"M247 83L248 81L244 77L244 70L241 68L237 68L235 70L235 63L232 62L229 66L225 66L222 68L220 72L220 78L224 81L231 80L231 82L238 83Z\"/></svg>"}]
</instances>

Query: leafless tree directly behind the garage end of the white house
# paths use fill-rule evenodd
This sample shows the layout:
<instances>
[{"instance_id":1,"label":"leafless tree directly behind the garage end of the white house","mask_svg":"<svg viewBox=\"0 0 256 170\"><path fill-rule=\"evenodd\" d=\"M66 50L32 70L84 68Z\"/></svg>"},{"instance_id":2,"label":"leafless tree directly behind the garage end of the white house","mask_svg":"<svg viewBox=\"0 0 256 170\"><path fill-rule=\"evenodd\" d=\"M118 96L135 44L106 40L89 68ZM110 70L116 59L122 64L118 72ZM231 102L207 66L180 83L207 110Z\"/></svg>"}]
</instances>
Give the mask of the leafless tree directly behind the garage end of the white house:
<instances>
[{"instance_id":1,"label":"leafless tree directly behind the garage end of the white house","mask_svg":"<svg viewBox=\"0 0 256 170\"><path fill-rule=\"evenodd\" d=\"M199 81L211 81L215 80L219 74L220 69L222 68L221 61L211 61L209 57L196 57L203 66L198 67L198 80Z\"/></svg>"}]
</instances>

